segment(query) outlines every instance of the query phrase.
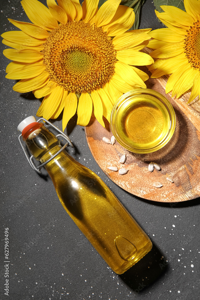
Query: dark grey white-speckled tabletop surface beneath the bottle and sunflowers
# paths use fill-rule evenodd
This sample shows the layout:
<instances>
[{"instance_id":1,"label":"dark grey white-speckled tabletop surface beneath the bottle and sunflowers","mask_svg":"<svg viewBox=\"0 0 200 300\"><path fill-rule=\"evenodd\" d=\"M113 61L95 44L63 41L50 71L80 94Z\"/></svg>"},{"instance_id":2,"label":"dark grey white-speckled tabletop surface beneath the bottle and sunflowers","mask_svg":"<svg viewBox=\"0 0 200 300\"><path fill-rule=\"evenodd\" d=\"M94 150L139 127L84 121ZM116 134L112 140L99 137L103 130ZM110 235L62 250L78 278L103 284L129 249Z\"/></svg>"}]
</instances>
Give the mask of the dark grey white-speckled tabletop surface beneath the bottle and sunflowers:
<instances>
[{"instance_id":1,"label":"dark grey white-speckled tabletop surface beneath the bottle and sunflowers","mask_svg":"<svg viewBox=\"0 0 200 300\"><path fill-rule=\"evenodd\" d=\"M1 33L18 30L7 18L28 22L19 1L0 4ZM159 27L154 4L147 0L140 28ZM5 48L1 44L1 53ZM67 215L51 179L40 177L25 160L17 125L36 115L40 101L31 92L12 90L16 81L4 78L9 62L1 55L0 299L7 297L5 227L9 227L9 299L199 299L199 198L165 204L122 190L98 167L84 128L76 126L76 117L71 119L67 134L76 150L68 151L106 182L153 242L151 252L130 270L122 275L112 272ZM61 123L61 118L54 121L59 128Z\"/></svg>"}]
</instances>

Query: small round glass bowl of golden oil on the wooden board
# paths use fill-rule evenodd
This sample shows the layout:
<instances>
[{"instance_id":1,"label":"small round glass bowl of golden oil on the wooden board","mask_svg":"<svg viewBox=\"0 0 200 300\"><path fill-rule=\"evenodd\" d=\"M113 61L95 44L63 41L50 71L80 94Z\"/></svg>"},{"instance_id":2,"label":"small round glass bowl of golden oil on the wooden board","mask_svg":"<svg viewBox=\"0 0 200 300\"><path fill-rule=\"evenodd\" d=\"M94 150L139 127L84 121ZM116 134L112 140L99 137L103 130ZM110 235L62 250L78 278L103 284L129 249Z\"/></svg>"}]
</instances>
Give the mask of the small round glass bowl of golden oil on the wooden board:
<instances>
[{"instance_id":1,"label":"small round glass bowl of golden oil on the wooden board","mask_svg":"<svg viewBox=\"0 0 200 300\"><path fill-rule=\"evenodd\" d=\"M171 139L176 124L172 104L159 92L138 88L122 95L111 113L111 129L125 149L151 153Z\"/></svg>"}]
</instances>

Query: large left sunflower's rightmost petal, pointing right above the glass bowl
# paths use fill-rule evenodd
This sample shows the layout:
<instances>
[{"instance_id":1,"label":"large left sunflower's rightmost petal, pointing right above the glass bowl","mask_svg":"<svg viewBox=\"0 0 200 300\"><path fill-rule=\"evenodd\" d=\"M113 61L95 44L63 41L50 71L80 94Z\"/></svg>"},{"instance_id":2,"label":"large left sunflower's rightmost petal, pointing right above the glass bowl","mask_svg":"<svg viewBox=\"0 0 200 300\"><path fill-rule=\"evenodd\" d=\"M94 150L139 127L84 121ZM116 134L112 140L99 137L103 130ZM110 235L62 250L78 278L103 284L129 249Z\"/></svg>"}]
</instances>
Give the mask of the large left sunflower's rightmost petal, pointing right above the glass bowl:
<instances>
[{"instance_id":1,"label":"large left sunflower's rightmost petal, pointing right above the glass bowl","mask_svg":"<svg viewBox=\"0 0 200 300\"><path fill-rule=\"evenodd\" d=\"M125 64L132 64L136 66L144 66L154 63L154 60L150 55L133 49L117 51L116 58Z\"/></svg>"}]
</instances>

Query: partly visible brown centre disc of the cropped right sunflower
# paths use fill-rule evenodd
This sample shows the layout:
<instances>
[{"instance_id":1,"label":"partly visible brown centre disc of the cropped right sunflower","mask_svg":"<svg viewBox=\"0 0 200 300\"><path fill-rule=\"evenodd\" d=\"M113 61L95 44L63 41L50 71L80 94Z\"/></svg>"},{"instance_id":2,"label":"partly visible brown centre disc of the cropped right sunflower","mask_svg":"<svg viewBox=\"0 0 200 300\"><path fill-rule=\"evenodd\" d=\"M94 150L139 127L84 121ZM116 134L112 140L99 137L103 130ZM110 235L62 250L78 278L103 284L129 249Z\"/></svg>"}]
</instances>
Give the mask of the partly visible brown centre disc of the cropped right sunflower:
<instances>
[{"instance_id":1,"label":"partly visible brown centre disc of the cropped right sunflower","mask_svg":"<svg viewBox=\"0 0 200 300\"><path fill-rule=\"evenodd\" d=\"M200 70L200 21L193 23L187 30L184 44L189 63L193 68Z\"/></svg>"}]
</instances>

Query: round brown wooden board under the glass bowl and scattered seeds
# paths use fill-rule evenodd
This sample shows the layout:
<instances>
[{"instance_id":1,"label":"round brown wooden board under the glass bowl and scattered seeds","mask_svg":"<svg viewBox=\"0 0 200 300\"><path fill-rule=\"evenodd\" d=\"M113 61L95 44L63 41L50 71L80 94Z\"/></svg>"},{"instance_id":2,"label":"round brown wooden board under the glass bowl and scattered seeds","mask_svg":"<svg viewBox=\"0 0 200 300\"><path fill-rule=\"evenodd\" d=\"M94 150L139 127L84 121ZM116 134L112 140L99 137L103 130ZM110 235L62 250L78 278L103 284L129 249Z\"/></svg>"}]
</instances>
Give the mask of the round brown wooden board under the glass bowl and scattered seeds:
<instances>
[{"instance_id":1,"label":"round brown wooden board under the glass bowl and scattered seeds","mask_svg":"<svg viewBox=\"0 0 200 300\"><path fill-rule=\"evenodd\" d=\"M156 79L149 79L147 88L162 93L171 102L176 114L176 128L172 139L162 149L149 154L136 154L124 149L117 142L112 146L102 141L103 137L111 139L112 131L107 120L106 128L91 117L85 127L89 148L97 164L104 173L118 186L133 195L159 202L180 202L200 196L200 132L194 127L187 116ZM126 155L124 164L119 163L121 155ZM153 161L159 164L161 170L154 168L148 171L148 164ZM107 167L126 167L127 174ZM170 177L174 183L166 180ZM154 182L161 182L163 187L156 188Z\"/></svg>"}]
</instances>

